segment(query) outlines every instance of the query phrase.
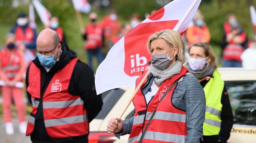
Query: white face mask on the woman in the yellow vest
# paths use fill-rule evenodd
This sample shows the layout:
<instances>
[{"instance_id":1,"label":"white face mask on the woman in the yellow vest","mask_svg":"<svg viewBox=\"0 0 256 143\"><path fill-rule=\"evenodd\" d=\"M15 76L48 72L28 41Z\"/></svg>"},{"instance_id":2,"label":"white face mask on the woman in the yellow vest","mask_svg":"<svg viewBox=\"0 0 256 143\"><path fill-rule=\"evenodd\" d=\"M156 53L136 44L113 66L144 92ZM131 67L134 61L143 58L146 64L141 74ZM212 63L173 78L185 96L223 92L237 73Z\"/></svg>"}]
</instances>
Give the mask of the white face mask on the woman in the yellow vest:
<instances>
[{"instance_id":1,"label":"white face mask on the woman in the yellow vest","mask_svg":"<svg viewBox=\"0 0 256 143\"><path fill-rule=\"evenodd\" d=\"M208 57L202 58L202 59L189 58L188 59L189 67L194 71L202 70L205 67L207 59Z\"/></svg>"}]
</instances>

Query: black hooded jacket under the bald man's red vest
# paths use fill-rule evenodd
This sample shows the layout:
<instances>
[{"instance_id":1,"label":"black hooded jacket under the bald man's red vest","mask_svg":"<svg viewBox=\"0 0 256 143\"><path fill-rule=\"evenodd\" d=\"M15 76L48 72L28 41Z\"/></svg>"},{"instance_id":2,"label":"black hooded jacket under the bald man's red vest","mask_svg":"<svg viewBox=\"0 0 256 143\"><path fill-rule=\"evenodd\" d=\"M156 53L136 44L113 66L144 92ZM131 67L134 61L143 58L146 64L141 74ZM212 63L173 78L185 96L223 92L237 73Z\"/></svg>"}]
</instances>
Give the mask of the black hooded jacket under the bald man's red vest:
<instances>
[{"instance_id":1,"label":"black hooded jacket under the bald man's red vest","mask_svg":"<svg viewBox=\"0 0 256 143\"><path fill-rule=\"evenodd\" d=\"M60 60L56 61L55 65L47 73L45 68L40 64L38 58L34 59L33 63L41 70L41 93L40 100L42 101L44 92L51 81L53 75L57 70L62 69L70 62L73 58L76 57L76 53L70 50L67 45L62 43L62 54ZM29 68L26 73L26 85L28 87L28 75ZM77 61L71 79L70 85L68 86L68 92L71 95L79 95L84 101L84 108L87 111L89 122L91 122L97 114L100 112L102 107L102 98L101 95L97 95L95 91L94 84L94 75L93 71L81 61ZM28 99L31 103L31 95L27 92ZM43 107L42 102L39 103L36 113L35 128L33 133L30 135L32 142L54 142L54 143L84 143L88 142L88 135L67 137L63 139L53 139L50 137L45 129L44 117L43 117Z\"/></svg>"}]
</instances>

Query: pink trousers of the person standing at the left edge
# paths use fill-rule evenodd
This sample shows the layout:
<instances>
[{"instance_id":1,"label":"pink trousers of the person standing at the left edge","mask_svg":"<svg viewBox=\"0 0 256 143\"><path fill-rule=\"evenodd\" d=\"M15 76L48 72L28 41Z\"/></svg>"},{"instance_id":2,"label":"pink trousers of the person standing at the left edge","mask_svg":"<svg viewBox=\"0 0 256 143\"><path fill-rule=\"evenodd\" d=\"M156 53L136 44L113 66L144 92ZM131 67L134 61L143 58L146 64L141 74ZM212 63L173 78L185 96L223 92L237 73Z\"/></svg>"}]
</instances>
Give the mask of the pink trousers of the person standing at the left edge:
<instances>
[{"instance_id":1,"label":"pink trousers of the person standing at the left edge","mask_svg":"<svg viewBox=\"0 0 256 143\"><path fill-rule=\"evenodd\" d=\"M13 98L18 110L19 123L24 122L25 106L22 88L2 86L1 91L3 97L3 115L5 122L11 122L11 98Z\"/></svg>"}]
</instances>

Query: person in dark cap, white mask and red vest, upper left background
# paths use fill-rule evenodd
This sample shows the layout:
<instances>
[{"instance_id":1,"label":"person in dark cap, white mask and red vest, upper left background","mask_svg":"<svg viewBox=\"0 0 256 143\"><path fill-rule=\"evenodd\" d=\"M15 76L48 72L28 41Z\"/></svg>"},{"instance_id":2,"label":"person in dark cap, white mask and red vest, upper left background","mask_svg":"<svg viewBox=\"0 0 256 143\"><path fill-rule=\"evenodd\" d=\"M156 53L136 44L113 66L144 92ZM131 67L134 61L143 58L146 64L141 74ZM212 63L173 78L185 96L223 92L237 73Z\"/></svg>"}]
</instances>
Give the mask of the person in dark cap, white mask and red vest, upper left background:
<instances>
[{"instance_id":1,"label":"person in dark cap, white mask and red vest, upper left background","mask_svg":"<svg viewBox=\"0 0 256 143\"><path fill-rule=\"evenodd\" d=\"M23 47L26 66L35 59L37 32L29 26L28 17L24 12L20 12L16 21L16 25L10 30L15 34L16 44Z\"/></svg>"}]
</instances>

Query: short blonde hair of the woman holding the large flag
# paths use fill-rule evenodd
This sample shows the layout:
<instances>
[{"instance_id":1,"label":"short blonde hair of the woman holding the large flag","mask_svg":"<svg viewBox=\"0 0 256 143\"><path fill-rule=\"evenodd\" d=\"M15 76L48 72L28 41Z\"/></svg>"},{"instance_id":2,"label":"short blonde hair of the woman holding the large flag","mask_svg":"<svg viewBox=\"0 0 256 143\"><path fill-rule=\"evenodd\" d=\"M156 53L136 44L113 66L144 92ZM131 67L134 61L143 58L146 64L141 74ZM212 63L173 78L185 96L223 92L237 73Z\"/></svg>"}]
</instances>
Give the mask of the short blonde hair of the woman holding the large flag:
<instances>
[{"instance_id":1,"label":"short blonde hair of the woman holding the large flag","mask_svg":"<svg viewBox=\"0 0 256 143\"><path fill-rule=\"evenodd\" d=\"M178 48L178 53L175 56L175 59L180 60L182 63L185 62L185 44L184 41L182 40L182 37L180 33L174 31L174 30L161 30L158 31L152 35L149 36L148 41L147 41L147 50L150 53L150 47L151 47L151 42L155 39L164 39L167 44L172 47L177 47Z\"/></svg>"}]
</instances>

